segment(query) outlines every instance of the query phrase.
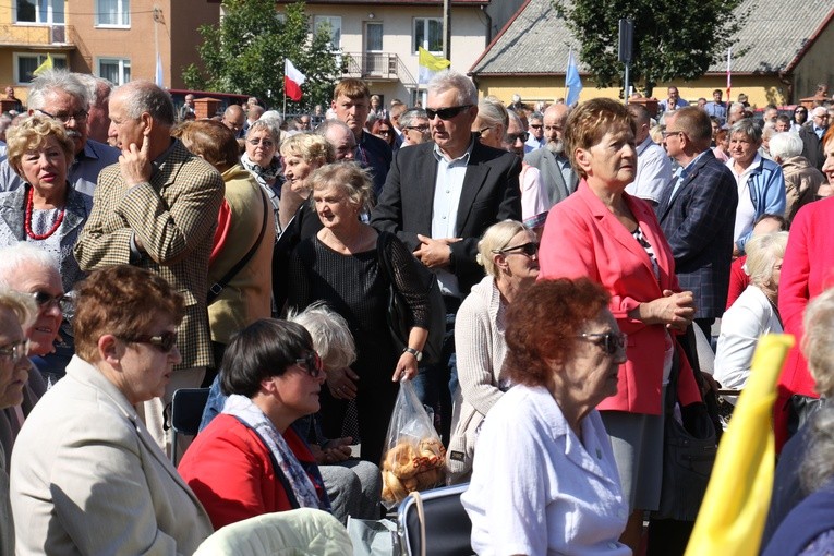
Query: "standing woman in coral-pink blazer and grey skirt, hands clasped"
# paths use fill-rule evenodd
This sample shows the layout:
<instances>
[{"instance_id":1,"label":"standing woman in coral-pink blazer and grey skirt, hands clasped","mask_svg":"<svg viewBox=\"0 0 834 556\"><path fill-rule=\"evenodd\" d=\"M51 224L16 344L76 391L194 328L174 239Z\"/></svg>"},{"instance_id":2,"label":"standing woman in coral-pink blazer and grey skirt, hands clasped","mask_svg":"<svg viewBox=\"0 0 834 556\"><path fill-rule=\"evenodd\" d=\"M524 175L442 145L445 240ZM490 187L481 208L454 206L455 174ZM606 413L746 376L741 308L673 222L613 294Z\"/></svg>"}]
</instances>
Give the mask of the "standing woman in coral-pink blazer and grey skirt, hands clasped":
<instances>
[{"instance_id":1,"label":"standing woman in coral-pink blazer and grey skirt, hands clasped","mask_svg":"<svg viewBox=\"0 0 834 556\"><path fill-rule=\"evenodd\" d=\"M657 509L660 503L663 388L676 345L669 333L691 324L693 298L679 292L675 262L654 211L625 193L637 172L634 124L626 108L602 98L583 102L570 113L565 143L582 181L551 209L539 279L588 276L599 281L628 335L617 394L597 409L631 510L621 540L636 552L643 510ZM691 372L680 373L678 396L684 404L701 401Z\"/></svg>"}]
</instances>

